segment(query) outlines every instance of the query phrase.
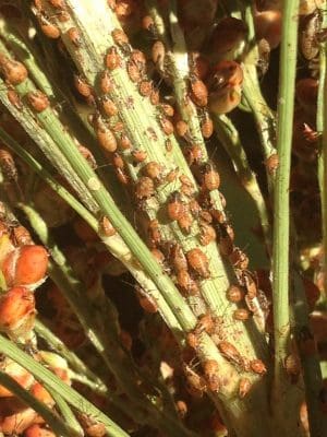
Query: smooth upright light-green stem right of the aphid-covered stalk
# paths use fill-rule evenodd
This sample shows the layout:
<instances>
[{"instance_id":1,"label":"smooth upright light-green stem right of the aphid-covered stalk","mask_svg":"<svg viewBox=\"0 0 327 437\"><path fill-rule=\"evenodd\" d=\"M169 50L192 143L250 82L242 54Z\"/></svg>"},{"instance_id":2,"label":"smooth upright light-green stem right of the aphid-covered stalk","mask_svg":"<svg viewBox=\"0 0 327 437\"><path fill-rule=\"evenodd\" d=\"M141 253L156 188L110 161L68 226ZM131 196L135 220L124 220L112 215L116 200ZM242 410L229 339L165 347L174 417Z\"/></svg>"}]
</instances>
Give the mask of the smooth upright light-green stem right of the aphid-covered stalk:
<instances>
[{"instance_id":1,"label":"smooth upright light-green stem right of the aphid-covered stalk","mask_svg":"<svg viewBox=\"0 0 327 437\"><path fill-rule=\"evenodd\" d=\"M274 246L272 246L272 302L275 336L274 404L282 414L284 404L284 358L289 353L289 241L290 205L289 182L291 166L294 86L296 73L299 0L290 0L283 7L278 96L277 152L280 164L276 174L274 192Z\"/></svg>"}]
</instances>

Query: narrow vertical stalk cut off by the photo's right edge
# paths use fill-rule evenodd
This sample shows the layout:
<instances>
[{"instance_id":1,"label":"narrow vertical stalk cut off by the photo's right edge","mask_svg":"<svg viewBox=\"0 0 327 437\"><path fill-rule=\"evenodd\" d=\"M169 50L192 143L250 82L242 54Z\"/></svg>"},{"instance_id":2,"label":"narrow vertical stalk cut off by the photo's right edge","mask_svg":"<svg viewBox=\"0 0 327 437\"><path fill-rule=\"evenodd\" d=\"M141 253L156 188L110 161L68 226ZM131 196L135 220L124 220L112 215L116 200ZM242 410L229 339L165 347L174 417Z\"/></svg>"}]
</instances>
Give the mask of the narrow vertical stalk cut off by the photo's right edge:
<instances>
[{"instance_id":1,"label":"narrow vertical stalk cut off by the photo's right edge","mask_svg":"<svg viewBox=\"0 0 327 437\"><path fill-rule=\"evenodd\" d=\"M327 3L322 4L322 28L327 25ZM317 131L322 133L319 139L320 153L318 156L318 182L322 202L322 231L323 231L323 271L324 287L322 297L327 302L327 44L320 44L319 52L319 83L317 101Z\"/></svg>"}]
</instances>

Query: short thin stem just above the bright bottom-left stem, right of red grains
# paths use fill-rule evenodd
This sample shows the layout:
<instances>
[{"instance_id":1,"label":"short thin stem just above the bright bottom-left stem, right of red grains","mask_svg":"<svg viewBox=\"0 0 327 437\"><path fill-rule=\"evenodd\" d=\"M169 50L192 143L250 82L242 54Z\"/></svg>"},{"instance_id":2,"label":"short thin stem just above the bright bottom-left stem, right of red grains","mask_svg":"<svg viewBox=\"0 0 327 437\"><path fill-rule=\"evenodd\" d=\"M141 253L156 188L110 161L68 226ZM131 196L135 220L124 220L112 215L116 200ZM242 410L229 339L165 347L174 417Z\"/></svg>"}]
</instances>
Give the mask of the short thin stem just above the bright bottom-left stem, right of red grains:
<instances>
[{"instance_id":1,"label":"short thin stem just above the bright bottom-left stem, right of red grains","mask_svg":"<svg viewBox=\"0 0 327 437\"><path fill-rule=\"evenodd\" d=\"M70 351L66 345L39 320L39 318L35 320L34 329L37 335L43 338L51 350L58 352L64 359L66 359L77 375L87 378L87 380L93 383L93 389L95 391L99 393L107 393L108 390L104 382L74 352Z\"/></svg>"}]
</instances>

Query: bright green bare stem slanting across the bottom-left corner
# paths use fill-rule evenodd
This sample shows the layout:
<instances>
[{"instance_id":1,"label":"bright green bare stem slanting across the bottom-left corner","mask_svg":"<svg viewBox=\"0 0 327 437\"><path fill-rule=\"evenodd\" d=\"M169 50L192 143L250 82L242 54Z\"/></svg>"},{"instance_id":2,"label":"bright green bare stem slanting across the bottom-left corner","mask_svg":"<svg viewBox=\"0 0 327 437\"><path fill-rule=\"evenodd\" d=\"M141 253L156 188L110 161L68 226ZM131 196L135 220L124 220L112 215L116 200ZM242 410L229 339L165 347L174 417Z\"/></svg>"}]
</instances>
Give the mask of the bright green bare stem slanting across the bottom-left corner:
<instances>
[{"instance_id":1,"label":"bright green bare stem slanting across the bottom-left corner","mask_svg":"<svg viewBox=\"0 0 327 437\"><path fill-rule=\"evenodd\" d=\"M22 367L31 371L36 379L51 388L58 394L60 394L70 405L75 408L77 411L94 416L97 421L102 422L106 425L106 429L112 437L128 437L129 435L121 429L114 422L106 416L100 410L88 402L74 389L62 382L56 375L50 370L46 369L43 365L37 363L29 355L22 352L15 344L10 340L7 340L3 335L0 335L0 351L11 359L19 363ZM1 383L3 383L1 381ZM29 400L26 400L29 403ZM60 433L59 433L60 434ZM72 434L68 434L71 436Z\"/></svg>"}]
</instances>

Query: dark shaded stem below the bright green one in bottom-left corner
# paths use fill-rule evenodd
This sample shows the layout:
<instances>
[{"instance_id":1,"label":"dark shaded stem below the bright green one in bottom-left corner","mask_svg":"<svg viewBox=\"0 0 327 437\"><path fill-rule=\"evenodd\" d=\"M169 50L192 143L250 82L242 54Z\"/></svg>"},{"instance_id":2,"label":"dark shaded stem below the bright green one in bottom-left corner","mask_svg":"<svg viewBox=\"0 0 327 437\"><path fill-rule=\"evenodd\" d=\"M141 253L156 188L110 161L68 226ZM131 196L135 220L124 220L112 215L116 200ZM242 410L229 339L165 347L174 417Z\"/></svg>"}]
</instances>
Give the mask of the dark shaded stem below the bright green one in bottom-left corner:
<instances>
[{"instance_id":1,"label":"dark shaded stem below the bright green one in bottom-left corner","mask_svg":"<svg viewBox=\"0 0 327 437\"><path fill-rule=\"evenodd\" d=\"M33 410L43 416L51 429L63 437L81 437L83 434L77 433L76 429L71 426L70 422L64 422L61 417L58 417L43 402L38 401L27 390L23 389L12 377L4 371L0 370L0 382L8 390L12 391L17 398L26 402Z\"/></svg>"}]
</instances>

